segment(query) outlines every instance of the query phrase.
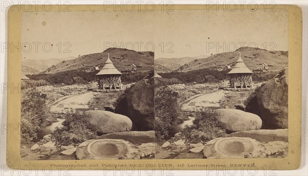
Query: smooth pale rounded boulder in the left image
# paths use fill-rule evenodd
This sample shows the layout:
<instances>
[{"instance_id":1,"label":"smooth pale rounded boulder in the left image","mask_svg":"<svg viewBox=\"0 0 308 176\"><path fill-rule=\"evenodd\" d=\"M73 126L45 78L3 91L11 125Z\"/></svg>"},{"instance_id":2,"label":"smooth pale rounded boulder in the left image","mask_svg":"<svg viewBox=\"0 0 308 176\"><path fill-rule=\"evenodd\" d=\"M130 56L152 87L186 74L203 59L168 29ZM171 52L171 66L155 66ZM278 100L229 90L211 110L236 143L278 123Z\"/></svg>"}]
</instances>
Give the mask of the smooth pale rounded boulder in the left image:
<instances>
[{"instance_id":1,"label":"smooth pale rounded boulder in the left image","mask_svg":"<svg viewBox=\"0 0 308 176\"><path fill-rule=\"evenodd\" d=\"M85 114L90 117L92 127L103 134L129 131L132 127L131 120L121 114L100 110L86 111Z\"/></svg>"}]
</instances>

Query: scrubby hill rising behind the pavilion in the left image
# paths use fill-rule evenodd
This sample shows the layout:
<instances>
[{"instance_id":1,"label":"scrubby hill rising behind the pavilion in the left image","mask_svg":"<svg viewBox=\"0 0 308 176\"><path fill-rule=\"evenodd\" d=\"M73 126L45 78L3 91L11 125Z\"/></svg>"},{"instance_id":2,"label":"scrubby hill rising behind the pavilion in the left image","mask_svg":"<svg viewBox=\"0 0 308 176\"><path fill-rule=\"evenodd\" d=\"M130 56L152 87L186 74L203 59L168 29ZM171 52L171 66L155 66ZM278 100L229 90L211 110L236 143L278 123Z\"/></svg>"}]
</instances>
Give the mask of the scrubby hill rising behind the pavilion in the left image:
<instances>
[{"instance_id":1,"label":"scrubby hill rising behind the pavilion in the left image","mask_svg":"<svg viewBox=\"0 0 308 176\"><path fill-rule=\"evenodd\" d=\"M102 69L105 61L107 60L107 54L110 54L110 59L114 64L114 67L119 71L129 70L131 63L138 65L138 72L148 71L153 69L154 53L153 52L136 52L133 50L121 49L121 48L109 48L102 53L94 53L80 56L72 60L64 60L53 67L48 68L43 73L57 73L69 70L80 70L90 72L94 67Z\"/></svg>"}]
</instances>

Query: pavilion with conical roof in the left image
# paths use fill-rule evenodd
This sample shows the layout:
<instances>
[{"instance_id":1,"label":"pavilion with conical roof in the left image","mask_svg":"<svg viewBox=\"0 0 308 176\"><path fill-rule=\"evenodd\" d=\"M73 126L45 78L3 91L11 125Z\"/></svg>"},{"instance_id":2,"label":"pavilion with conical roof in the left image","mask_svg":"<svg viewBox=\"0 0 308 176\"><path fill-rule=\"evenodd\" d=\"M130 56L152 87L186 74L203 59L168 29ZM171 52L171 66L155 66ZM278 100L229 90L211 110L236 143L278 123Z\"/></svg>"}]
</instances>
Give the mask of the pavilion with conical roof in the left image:
<instances>
[{"instance_id":1,"label":"pavilion with conical roof in the left image","mask_svg":"<svg viewBox=\"0 0 308 176\"><path fill-rule=\"evenodd\" d=\"M122 89L121 75L122 73L114 67L108 53L108 58L105 62L103 69L95 76L98 76L99 78L98 82L100 89L117 90Z\"/></svg>"}]
</instances>

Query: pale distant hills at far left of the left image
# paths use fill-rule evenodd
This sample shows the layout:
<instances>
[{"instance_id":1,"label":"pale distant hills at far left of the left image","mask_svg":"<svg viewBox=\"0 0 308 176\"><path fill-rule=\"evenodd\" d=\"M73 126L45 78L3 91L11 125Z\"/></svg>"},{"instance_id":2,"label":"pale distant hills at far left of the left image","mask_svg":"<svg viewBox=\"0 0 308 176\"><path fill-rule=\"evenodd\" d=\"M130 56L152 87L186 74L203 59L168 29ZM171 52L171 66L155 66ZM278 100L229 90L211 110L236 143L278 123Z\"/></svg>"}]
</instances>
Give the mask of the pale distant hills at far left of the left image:
<instances>
[{"instance_id":1,"label":"pale distant hills at far left of the left image","mask_svg":"<svg viewBox=\"0 0 308 176\"><path fill-rule=\"evenodd\" d=\"M52 58L52 59L24 59L22 60L22 73L37 74L45 71L54 64L60 63L63 60L74 59L75 57ZM29 71L31 70L32 71Z\"/></svg>"}]
</instances>

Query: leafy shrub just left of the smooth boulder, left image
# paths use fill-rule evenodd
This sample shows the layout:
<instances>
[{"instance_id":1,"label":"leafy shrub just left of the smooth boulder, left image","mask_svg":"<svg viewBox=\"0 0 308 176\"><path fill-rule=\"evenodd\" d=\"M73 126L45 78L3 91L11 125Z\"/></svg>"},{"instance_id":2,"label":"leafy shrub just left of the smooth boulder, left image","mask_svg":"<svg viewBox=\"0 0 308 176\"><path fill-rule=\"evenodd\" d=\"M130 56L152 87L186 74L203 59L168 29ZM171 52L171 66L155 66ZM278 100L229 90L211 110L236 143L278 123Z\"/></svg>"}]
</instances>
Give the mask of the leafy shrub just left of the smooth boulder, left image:
<instances>
[{"instance_id":1,"label":"leafy shrub just left of the smooth boulder, left image","mask_svg":"<svg viewBox=\"0 0 308 176\"><path fill-rule=\"evenodd\" d=\"M52 134L52 140L57 147L62 145L78 145L86 140L97 137L97 131L91 128L89 116L73 114L62 123L62 127L56 127Z\"/></svg>"}]
</instances>

